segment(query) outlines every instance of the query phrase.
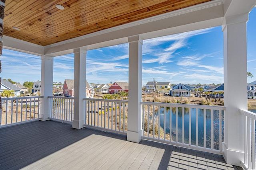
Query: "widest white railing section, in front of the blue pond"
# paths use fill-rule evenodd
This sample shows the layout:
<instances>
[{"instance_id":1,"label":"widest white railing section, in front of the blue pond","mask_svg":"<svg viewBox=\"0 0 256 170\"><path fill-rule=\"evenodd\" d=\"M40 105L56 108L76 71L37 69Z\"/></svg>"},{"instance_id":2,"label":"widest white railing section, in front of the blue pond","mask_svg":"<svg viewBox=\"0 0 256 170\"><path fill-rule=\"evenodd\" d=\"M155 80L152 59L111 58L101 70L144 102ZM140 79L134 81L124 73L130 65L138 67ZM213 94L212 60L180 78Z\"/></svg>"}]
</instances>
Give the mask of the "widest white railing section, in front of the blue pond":
<instances>
[{"instance_id":1,"label":"widest white railing section, in front of the blue pond","mask_svg":"<svg viewBox=\"0 0 256 170\"><path fill-rule=\"evenodd\" d=\"M142 139L223 154L222 106L141 102Z\"/></svg>"}]
</instances>

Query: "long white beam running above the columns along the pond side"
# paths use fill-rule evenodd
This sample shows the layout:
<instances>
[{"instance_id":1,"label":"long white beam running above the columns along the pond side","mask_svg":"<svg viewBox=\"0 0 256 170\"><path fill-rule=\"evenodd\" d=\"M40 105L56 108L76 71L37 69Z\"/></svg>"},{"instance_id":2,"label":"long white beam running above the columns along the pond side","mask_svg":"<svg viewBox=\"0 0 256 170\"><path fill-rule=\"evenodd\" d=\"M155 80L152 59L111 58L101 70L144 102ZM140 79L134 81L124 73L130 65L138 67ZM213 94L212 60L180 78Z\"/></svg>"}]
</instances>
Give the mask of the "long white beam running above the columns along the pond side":
<instances>
[{"instance_id":1,"label":"long white beam running above the columns along the pond side","mask_svg":"<svg viewBox=\"0 0 256 170\"><path fill-rule=\"evenodd\" d=\"M166 14L104 29L74 39L45 46L45 54L86 46L88 50L128 43L128 37L143 35L144 39L192 31L222 24L222 0L213 0ZM192 27L191 27L192 26ZM153 33L151 35L151 33Z\"/></svg>"}]
</instances>

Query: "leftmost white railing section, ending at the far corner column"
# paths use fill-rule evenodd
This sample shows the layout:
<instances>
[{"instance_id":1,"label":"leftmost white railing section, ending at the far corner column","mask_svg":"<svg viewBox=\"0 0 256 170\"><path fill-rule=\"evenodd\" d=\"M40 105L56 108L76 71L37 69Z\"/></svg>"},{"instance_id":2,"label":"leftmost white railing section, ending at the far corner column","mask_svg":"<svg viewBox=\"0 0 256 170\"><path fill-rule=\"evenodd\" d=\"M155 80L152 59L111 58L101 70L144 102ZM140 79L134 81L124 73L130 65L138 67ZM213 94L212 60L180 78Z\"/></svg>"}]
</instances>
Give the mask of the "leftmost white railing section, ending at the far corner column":
<instances>
[{"instance_id":1,"label":"leftmost white railing section, ending at the far corner column","mask_svg":"<svg viewBox=\"0 0 256 170\"><path fill-rule=\"evenodd\" d=\"M39 119L40 98L42 96L2 98L0 126Z\"/></svg>"}]
</instances>

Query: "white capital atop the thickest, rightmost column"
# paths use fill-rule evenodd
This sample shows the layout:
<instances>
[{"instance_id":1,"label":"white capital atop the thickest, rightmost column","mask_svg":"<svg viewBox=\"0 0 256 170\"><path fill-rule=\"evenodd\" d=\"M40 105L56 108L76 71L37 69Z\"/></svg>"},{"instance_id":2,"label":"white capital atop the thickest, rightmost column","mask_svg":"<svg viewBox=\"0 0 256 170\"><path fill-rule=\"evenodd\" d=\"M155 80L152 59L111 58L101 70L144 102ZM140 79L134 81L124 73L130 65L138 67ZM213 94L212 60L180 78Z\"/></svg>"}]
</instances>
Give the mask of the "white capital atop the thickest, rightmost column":
<instances>
[{"instance_id":1,"label":"white capital atop the thickest, rightmost column","mask_svg":"<svg viewBox=\"0 0 256 170\"><path fill-rule=\"evenodd\" d=\"M231 25L235 23L247 22L249 20L249 13L238 14L234 16L226 16L222 22L222 31L225 29L226 25Z\"/></svg>"}]
</instances>

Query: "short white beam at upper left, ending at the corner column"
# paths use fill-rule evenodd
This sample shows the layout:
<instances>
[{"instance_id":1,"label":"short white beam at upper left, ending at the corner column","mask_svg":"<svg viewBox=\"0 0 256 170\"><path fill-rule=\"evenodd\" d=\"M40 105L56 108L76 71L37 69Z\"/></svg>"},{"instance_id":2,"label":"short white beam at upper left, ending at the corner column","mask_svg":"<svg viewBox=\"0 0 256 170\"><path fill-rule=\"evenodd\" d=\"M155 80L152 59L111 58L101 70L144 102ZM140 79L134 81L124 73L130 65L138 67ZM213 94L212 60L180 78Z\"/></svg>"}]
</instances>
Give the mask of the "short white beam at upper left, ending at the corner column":
<instances>
[{"instance_id":1,"label":"short white beam at upper left, ending at the corner column","mask_svg":"<svg viewBox=\"0 0 256 170\"><path fill-rule=\"evenodd\" d=\"M44 47L20 39L3 36L3 48L33 55L44 55Z\"/></svg>"}]
</instances>

